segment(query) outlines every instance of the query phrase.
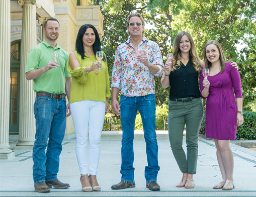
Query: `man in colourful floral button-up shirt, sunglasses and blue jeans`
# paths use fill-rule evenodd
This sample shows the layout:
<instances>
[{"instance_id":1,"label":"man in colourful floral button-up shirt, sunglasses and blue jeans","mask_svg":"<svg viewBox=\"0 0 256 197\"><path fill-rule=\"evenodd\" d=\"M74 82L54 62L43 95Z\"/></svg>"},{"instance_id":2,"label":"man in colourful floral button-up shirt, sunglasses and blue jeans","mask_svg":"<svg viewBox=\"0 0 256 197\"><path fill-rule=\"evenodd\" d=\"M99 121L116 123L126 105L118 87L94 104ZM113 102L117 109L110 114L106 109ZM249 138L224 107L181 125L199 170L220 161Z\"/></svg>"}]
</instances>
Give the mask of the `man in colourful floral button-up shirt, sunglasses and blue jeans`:
<instances>
[{"instance_id":1,"label":"man in colourful floral button-up shirt, sunglasses and blue jeans","mask_svg":"<svg viewBox=\"0 0 256 197\"><path fill-rule=\"evenodd\" d=\"M155 82L154 75L161 76L163 61L159 46L142 36L144 20L139 13L132 13L127 20L127 33L130 38L117 48L112 73L112 109L119 115L123 129L121 182L112 185L113 189L135 187L133 139L137 111L139 111L146 141L148 166L145 167L146 187L160 190L156 182L158 166L158 146L155 133ZM136 55L135 48L142 49ZM121 89L120 106L117 101ZM120 113L119 113L120 110Z\"/></svg>"}]
</instances>

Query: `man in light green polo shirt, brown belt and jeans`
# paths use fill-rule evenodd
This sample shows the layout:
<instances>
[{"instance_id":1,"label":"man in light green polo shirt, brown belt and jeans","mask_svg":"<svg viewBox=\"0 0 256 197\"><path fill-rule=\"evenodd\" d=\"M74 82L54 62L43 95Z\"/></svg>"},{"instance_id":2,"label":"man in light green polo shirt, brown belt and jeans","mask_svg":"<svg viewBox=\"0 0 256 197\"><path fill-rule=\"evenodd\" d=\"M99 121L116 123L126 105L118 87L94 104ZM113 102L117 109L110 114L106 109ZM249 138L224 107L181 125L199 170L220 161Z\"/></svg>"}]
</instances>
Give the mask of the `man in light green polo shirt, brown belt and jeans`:
<instances>
[{"instance_id":1,"label":"man in light green polo shirt, brown belt and jeans","mask_svg":"<svg viewBox=\"0 0 256 197\"><path fill-rule=\"evenodd\" d=\"M69 100L71 88L71 75L67 72L68 54L56 43L59 22L49 19L44 27L45 40L29 52L26 67L26 78L33 79L36 92L33 178L38 192L49 192L52 186L58 189L70 187L57 179L66 118L70 116L69 103L66 106L65 99L67 95Z\"/></svg>"}]
</instances>

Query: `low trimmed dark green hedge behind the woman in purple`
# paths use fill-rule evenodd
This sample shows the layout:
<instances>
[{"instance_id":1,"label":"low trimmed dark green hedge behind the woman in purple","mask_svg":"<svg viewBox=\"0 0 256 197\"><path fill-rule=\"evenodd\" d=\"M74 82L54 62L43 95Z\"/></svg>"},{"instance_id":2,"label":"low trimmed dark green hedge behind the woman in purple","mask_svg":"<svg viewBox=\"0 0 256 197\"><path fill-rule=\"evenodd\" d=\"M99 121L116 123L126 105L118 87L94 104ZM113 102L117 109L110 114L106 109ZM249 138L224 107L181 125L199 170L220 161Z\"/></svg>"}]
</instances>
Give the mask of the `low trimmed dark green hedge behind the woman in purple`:
<instances>
[{"instance_id":1,"label":"low trimmed dark green hedge behind the woman in purple","mask_svg":"<svg viewBox=\"0 0 256 197\"><path fill-rule=\"evenodd\" d=\"M256 112L244 111L243 120L243 124L237 127L235 140L256 140ZM200 133L205 135L205 113Z\"/></svg>"}]
</instances>

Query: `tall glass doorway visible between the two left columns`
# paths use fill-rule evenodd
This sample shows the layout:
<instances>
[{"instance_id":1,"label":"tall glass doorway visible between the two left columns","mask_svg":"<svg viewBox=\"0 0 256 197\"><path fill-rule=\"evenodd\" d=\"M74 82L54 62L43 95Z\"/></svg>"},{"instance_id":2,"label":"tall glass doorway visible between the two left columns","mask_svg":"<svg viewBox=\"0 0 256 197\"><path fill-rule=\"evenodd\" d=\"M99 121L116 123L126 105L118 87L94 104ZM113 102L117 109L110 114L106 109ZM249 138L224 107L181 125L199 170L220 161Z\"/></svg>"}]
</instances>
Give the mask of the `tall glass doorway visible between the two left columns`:
<instances>
[{"instance_id":1,"label":"tall glass doorway visible between the two left columns","mask_svg":"<svg viewBox=\"0 0 256 197\"><path fill-rule=\"evenodd\" d=\"M21 40L11 42L9 133L19 133Z\"/></svg>"}]
</instances>

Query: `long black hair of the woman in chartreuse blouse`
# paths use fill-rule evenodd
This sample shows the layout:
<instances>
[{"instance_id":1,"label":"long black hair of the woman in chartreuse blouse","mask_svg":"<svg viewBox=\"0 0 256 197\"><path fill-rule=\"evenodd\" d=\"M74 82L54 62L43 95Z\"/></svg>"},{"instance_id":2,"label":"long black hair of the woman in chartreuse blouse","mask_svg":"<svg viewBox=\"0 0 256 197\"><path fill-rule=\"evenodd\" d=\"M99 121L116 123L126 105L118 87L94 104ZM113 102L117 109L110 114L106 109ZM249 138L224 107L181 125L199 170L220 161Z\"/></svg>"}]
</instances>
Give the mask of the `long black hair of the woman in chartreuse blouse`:
<instances>
[{"instance_id":1,"label":"long black hair of the woman in chartreuse blouse","mask_svg":"<svg viewBox=\"0 0 256 197\"><path fill-rule=\"evenodd\" d=\"M99 36L97 29L91 24L84 24L83 26L80 27L78 34L76 36L76 41L75 41L75 50L81 55L82 59L84 59L86 57L86 56L84 56L82 37L83 37L84 33L86 33L86 30L88 28L92 28L95 33L95 42L93 44L94 55L96 56L97 51L101 51L101 40L100 40L100 36ZM104 54L104 61L106 61L106 60L107 59Z\"/></svg>"}]
</instances>

